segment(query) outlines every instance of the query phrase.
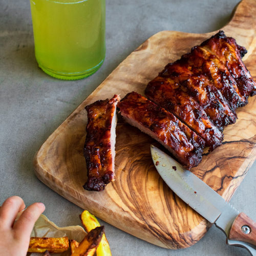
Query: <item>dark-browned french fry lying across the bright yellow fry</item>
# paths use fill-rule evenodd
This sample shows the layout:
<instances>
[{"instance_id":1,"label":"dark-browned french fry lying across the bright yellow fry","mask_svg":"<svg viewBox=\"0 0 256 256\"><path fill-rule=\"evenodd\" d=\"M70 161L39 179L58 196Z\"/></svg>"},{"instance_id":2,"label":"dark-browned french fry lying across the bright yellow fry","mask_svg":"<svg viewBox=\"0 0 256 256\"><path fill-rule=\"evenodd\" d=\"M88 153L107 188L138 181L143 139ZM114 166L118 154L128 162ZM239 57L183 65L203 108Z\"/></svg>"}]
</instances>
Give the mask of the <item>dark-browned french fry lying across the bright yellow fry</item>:
<instances>
[{"instance_id":1,"label":"dark-browned french fry lying across the bright yellow fry","mask_svg":"<svg viewBox=\"0 0 256 256\"><path fill-rule=\"evenodd\" d=\"M93 256L99 245L104 232L104 227L96 227L92 229L82 240L71 256Z\"/></svg>"}]
</instances>

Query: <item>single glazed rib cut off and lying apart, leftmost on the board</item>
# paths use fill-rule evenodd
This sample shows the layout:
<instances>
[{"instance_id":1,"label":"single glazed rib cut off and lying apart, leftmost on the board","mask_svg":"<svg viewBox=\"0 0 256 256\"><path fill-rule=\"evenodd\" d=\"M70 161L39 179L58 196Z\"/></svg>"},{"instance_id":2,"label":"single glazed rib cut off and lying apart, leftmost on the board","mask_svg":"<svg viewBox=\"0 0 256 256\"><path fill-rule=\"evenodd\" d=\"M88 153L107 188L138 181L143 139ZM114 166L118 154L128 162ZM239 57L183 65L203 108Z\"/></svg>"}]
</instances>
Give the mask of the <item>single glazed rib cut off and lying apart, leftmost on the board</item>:
<instances>
[{"instance_id":1,"label":"single glazed rib cut off and lying apart, leftmost on the board","mask_svg":"<svg viewBox=\"0 0 256 256\"><path fill-rule=\"evenodd\" d=\"M98 100L86 106L88 123L83 155L87 163L88 180L84 189L102 191L115 180L116 105L119 95Z\"/></svg>"}]
</instances>

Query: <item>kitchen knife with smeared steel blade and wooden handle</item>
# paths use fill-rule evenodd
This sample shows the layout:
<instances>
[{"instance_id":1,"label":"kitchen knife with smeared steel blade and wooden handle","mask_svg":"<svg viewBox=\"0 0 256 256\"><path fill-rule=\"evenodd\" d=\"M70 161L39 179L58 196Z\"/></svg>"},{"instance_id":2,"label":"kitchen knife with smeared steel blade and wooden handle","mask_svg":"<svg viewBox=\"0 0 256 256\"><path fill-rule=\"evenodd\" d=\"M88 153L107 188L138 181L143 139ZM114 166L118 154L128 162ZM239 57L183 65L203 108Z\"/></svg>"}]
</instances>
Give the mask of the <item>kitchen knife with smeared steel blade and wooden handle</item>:
<instances>
[{"instance_id":1,"label":"kitchen knife with smeared steel blade and wooden handle","mask_svg":"<svg viewBox=\"0 0 256 256\"><path fill-rule=\"evenodd\" d=\"M173 158L151 145L156 169L165 183L191 208L227 236L227 244L246 248L256 256L256 223L234 209L216 191Z\"/></svg>"}]
</instances>

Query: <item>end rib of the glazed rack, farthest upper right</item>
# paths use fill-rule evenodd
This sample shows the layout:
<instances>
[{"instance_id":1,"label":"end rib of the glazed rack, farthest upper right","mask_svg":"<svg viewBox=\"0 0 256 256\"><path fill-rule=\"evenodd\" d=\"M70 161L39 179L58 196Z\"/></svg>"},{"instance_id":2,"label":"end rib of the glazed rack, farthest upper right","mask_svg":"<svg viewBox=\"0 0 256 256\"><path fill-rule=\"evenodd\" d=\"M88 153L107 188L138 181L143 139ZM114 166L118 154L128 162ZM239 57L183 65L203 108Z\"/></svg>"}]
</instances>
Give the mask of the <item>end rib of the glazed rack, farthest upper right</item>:
<instances>
[{"instance_id":1,"label":"end rib of the glazed rack, farthest upper right","mask_svg":"<svg viewBox=\"0 0 256 256\"><path fill-rule=\"evenodd\" d=\"M236 81L242 98L239 106L247 104L248 97L256 94L256 84L241 59L246 49L239 46L234 38L226 37L223 31L202 42L201 46L220 59Z\"/></svg>"}]
</instances>

